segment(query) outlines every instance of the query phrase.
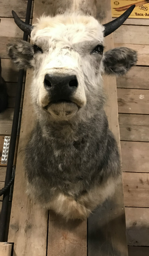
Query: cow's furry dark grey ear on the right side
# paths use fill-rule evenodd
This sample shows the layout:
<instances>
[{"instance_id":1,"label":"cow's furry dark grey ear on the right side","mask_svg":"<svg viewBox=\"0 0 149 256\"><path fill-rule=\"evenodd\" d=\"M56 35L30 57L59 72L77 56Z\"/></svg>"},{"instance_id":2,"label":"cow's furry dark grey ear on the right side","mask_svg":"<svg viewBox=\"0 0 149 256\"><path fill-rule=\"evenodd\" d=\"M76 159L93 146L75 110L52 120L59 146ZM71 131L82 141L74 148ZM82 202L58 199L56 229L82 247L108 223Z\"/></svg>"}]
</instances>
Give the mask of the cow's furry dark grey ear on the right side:
<instances>
[{"instance_id":1,"label":"cow's furry dark grey ear on the right side","mask_svg":"<svg viewBox=\"0 0 149 256\"><path fill-rule=\"evenodd\" d=\"M126 47L114 48L104 53L104 73L124 75L137 62L137 52Z\"/></svg>"}]
</instances>

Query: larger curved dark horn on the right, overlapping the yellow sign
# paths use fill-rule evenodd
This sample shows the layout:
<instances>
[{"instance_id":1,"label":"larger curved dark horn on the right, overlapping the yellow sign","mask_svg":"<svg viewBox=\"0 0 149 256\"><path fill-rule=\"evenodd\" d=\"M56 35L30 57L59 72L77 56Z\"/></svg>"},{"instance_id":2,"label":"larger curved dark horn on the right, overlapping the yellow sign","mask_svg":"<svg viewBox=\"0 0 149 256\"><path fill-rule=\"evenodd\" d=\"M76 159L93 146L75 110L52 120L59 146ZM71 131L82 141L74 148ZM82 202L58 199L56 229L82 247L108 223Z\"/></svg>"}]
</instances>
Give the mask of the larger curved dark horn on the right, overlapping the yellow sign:
<instances>
[{"instance_id":1,"label":"larger curved dark horn on the right, overlapping the yellow sign","mask_svg":"<svg viewBox=\"0 0 149 256\"><path fill-rule=\"evenodd\" d=\"M134 8L135 8L135 4L131 5L127 9L127 11L125 11L120 17L104 24L103 25L105 27L104 37L108 36L109 34L114 32L117 28L119 28L124 23L124 21L127 20L127 18L129 17L129 15L131 14Z\"/></svg>"}]
</instances>

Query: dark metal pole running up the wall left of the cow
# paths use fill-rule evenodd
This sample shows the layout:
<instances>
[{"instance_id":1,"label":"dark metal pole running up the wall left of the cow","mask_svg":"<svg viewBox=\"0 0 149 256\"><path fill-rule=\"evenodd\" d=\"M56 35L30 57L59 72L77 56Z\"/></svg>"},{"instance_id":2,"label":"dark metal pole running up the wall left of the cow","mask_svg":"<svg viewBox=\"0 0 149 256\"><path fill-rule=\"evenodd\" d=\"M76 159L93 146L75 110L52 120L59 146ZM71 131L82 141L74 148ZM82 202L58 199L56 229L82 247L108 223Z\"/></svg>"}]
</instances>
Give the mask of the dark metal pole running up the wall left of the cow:
<instances>
[{"instance_id":1,"label":"dark metal pole running up the wall left of the cow","mask_svg":"<svg viewBox=\"0 0 149 256\"><path fill-rule=\"evenodd\" d=\"M28 0L26 18L25 18L25 22L27 24L29 24L29 20L31 16L31 5L32 5L32 0ZM23 40L27 41L27 39L28 39L28 36L27 34L24 33ZM19 74L18 74L18 84L17 84L16 101L15 101L15 107L14 107L14 118L12 123L12 133L11 133L11 139L10 139L10 148L9 148L9 155L8 155L5 185L7 185L10 179L12 178L12 165L14 163L14 153L16 148L16 138L17 138L18 120L19 120L19 113L20 113L20 103L21 103L21 96L22 96L23 78L24 78L24 70L22 69L19 71ZM4 242L4 239L5 239L9 196L10 196L10 189L8 189L6 194L4 194L3 196L2 210L0 214L0 242Z\"/></svg>"}]
</instances>

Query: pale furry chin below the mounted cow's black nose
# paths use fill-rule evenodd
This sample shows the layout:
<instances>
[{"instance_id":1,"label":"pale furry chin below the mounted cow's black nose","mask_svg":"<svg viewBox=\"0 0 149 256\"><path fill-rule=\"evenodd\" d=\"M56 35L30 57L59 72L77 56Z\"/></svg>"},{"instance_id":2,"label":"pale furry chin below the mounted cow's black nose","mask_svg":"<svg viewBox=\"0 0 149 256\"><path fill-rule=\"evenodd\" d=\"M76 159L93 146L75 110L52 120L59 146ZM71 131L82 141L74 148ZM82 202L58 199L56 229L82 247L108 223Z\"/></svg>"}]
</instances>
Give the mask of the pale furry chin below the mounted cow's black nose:
<instances>
[{"instance_id":1,"label":"pale furry chin below the mounted cow's black nose","mask_svg":"<svg viewBox=\"0 0 149 256\"><path fill-rule=\"evenodd\" d=\"M57 120L71 119L78 109L77 104L71 101L51 102L47 107L49 114Z\"/></svg>"}]
</instances>

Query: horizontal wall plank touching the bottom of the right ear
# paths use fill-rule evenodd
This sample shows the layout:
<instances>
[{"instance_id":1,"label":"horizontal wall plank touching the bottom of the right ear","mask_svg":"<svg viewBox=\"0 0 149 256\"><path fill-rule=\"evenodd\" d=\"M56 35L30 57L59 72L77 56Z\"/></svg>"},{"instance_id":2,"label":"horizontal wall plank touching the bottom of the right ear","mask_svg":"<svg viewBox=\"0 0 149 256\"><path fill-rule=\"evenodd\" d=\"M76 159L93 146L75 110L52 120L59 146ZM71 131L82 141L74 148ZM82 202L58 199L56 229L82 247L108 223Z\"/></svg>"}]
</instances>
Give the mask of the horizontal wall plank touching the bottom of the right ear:
<instances>
[{"instance_id":1,"label":"horizontal wall plank touching the bottom of the right ear","mask_svg":"<svg viewBox=\"0 0 149 256\"><path fill-rule=\"evenodd\" d=\"M149 67L135 66L131 68L125 76L116 78L117 88L149 89L148 70Z\"/></svg>"}]
</instances>

